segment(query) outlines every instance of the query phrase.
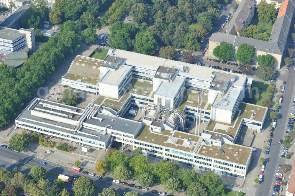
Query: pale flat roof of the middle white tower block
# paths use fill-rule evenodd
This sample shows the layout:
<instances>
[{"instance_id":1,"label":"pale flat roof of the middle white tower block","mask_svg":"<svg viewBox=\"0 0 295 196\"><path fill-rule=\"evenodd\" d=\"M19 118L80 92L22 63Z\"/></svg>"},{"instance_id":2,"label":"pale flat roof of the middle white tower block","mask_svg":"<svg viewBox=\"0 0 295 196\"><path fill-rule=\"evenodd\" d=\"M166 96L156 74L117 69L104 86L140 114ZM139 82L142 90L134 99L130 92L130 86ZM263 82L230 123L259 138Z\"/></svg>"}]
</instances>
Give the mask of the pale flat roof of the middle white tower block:
<instances>
[{"instance_id":1,"label":"pale flat roof of the middle white tower block","mask_svg":"<svg viewBox=\"0 0 295 196\"><path fill-rule=\"evenodd\" d=\"M184 82L185 78L179 76L176 76L176 78L171 82L164 80L155 91L155 95L174 98L180 91Z\"/></svg>"}]
</instances>

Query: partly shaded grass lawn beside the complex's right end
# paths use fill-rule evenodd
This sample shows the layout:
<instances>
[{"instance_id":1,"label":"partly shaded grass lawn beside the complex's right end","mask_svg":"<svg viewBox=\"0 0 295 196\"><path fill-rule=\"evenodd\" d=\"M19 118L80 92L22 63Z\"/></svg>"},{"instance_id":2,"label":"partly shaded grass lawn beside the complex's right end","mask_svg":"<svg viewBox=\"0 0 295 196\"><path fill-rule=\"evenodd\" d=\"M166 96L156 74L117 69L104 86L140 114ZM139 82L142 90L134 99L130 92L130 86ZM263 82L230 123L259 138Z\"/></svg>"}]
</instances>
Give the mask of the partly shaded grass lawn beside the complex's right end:
<instances>
[{"instance_id":1,"label":"partly shaded grass lawn beside the complex's right end","mask_svg":"<svg viewBox=\"0 0 295 196\"><path fill-rule=\"evenodd\" d=\"M262 106L262 102L266 97L268 97L269 95L271 95L271 97L273 97L273 93L270 93L267 90L267 88L269 86L270 86L269 84L253 81L252 88L251 88L252 97L250 99L250 103L258 105L258 106ZM257 93L256 92L257 89L259 90L259 92L258 92L259 93L259 100L258 101L256 101L254 98L254 95L256 95L256 93Z\"/></svg>"}]
</instances>

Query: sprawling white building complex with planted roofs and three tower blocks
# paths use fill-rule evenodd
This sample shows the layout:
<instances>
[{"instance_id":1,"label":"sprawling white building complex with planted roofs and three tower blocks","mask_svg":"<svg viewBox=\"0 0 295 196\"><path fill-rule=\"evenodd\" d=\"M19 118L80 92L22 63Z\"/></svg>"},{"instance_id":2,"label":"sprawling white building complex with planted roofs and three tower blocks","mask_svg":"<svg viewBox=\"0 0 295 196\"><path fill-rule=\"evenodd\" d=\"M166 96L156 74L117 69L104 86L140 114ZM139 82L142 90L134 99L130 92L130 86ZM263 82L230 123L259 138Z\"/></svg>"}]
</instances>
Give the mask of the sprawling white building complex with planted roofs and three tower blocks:
<instances>
[{"instance_id":1,"label":"sprawling white building complex with planted roofs and three tower blocks","mask_svg":"<svg viewBox=\"0 0 295 196\"><path fill-rule=\"evenodd\" d=\"M117 49L104 60L77 56L62 83L97 94L94 103L78 108L35 98L15 126L102 149L117 141L149 157L245 179L252 148L235 141L243 125L260 131L267 113L241 102L247 80ZM103 89L109 85L118 88ZM128 115L130 107L139 120Z\"/></svg>"}]
</instances>

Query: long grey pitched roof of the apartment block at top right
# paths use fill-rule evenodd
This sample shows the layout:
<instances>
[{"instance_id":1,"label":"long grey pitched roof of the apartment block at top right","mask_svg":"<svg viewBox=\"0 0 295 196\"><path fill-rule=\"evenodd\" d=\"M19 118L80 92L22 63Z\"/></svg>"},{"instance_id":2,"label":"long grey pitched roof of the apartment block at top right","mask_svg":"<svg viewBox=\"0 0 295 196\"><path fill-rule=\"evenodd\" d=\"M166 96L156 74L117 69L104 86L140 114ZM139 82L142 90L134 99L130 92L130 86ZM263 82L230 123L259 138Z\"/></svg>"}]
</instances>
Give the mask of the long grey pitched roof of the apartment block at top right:
<instances>
[{"instance_id":1,"label":"long grey pitched roof of the apartment block at top right","mask_svg":"<svg viewBox=\"0 0 295 196\"><path fill-rule=\"evenodd\" d=\"M242 0L237 11L232 16L230 23L227 25L226 32L235 35L238 29L245 27L251 11L253 11L255 3L251 0Z\"/></svg>"}]
</instances>

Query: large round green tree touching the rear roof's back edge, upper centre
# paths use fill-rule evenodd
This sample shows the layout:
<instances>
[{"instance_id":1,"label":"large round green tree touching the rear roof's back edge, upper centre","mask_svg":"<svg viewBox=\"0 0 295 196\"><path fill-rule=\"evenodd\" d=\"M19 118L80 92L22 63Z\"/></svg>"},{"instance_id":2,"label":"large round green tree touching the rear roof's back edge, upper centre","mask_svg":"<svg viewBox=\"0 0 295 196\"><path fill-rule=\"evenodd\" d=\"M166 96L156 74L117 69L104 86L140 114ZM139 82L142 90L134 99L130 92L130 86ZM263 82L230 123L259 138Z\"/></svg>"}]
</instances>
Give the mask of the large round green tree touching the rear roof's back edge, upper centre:
<instances>
[{"instance_id":1,"label":"large round green tree touching the rear roof's back edge, upper centre","mask_svg":"<svg viewBox=\"0 0 295 196\"><path fill-rule=\"evenodd\" d=\"M139 32L135 37L134 52L152 55L157 48L157 42L149 32Z\"/></svg>"}]
</instances>

